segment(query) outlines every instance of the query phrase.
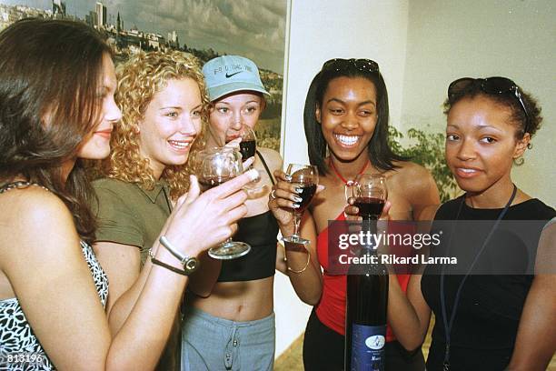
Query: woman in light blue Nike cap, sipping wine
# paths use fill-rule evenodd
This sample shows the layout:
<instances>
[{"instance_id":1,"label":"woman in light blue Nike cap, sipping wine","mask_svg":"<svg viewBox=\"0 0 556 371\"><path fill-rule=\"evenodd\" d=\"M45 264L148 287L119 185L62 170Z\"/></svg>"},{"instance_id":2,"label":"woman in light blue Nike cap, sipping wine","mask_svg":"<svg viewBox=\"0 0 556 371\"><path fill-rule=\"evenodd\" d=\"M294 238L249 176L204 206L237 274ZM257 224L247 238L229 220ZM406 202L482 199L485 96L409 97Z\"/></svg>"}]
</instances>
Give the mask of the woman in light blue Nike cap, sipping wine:
<instances>
[{"instance_id":1,"label":"woman in light blue Nike cap, sipping wine","mask_svg":"<svg viewBox=\"0 0 556 371\"><path fill-rule=\"evenodd\" d=\"M211 100L206 147L225 145L243 125L254 129L266 105L264 96L270 94L253 61L219 56L204 65L203 74ZM205 269L194 275L185 300L183 370L273 369L273 276L282 259L276 259L278 225L267 203L282 158L257 147L253 166L261 180L233 236L252 249L233 260L202 256Z\"/></svg>"}]
</instances>

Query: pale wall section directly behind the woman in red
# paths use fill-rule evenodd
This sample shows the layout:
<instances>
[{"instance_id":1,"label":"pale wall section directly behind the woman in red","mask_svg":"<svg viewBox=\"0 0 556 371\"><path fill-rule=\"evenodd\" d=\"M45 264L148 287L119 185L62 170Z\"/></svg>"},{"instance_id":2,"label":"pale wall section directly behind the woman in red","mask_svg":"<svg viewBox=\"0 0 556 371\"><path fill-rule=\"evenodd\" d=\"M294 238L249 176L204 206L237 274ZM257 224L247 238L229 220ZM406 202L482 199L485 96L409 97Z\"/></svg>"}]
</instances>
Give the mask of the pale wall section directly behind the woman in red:
<instances>
[{"instance_id":1,"label":"pale wall section directly behind the woman in red","mask_svg":"<svg viewBox=\"0 0 556 371\"><path fill-rule=\"evenodd\" d=\"M284 164L308 163L303 105L314 75L335 57L371 58L381 65L389 89L392 121L402 114L408 6L380 0L292 0L284 68L282 148ZM289 49L289 50L288 50ZM276 356L299 336L310 307L277 274L274 293Z\"/></svg>"}]
</instances>

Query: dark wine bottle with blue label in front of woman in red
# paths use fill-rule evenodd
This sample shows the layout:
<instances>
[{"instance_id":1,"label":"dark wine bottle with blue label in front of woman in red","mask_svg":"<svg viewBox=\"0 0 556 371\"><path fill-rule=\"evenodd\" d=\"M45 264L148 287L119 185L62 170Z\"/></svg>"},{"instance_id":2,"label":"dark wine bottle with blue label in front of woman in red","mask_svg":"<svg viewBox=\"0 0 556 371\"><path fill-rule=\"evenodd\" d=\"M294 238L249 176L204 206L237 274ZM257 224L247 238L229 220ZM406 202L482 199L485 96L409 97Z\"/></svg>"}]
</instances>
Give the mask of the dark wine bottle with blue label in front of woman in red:
<instances>
[{"instance_id":1,"label":"dark wine bottle with blue label in front of woman in red","mask_svg":"<svg viewBox=\"0 0 556 371\"><path fill-rule=\"evenodd\" d=\"M388 273L372 246L362 246L360 256L369 263L350 267L347 276L344 366L345 371L383 371Z\"/></svg>"}]
</instances>

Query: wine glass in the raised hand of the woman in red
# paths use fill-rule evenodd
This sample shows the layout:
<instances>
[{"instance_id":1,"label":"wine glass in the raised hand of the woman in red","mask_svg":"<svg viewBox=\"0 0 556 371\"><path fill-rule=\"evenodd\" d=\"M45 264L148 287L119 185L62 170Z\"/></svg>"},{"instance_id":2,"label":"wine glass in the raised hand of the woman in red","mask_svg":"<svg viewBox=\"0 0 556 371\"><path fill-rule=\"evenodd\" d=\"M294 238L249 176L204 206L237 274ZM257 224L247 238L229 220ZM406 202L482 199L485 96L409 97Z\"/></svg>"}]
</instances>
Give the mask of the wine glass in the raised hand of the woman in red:
<instances>
[{"instance_id":1,"label":"wine glass in the raised hand of the woman in red","mask_svg":"<svg viewBox=\"0 0 556 371\"><path fill-rule=\"evenodd\" d=\"M283 237L283 241L294 244L308 244L309 240L299 236L299 225L301 223L303 211L311 204L311 200L316 193L316 187L319 184L319 172L315 165L290 164L288 165L286 173L289 182L301 188L301 192L298 193L297 196L301 197L302 200L297 203L299 207L293 209L293 220L295 223L293 235Z\"/></svg>"}]
</instances>

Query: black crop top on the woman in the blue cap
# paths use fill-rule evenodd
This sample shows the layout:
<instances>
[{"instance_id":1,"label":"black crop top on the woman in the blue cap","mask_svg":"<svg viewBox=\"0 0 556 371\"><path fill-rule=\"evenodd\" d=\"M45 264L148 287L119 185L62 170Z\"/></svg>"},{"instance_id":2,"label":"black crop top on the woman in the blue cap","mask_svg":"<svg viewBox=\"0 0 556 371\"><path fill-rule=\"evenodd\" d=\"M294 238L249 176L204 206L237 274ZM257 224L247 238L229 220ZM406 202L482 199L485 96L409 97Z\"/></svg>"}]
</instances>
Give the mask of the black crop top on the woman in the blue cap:
<instances>
[{"instance_id":1,"label":"black crop top on the woman in the blue cap","mask_svg":"<svg viewBox=\"0 0 556 371\"><path fill-rule=\"evenodd\" d=\"M264 162L263 155L259 151L257 155L274 184L273 175ZM258 216L241 219L233 240L251 245L251 251L237 259L223 260L218 282L253 281L274 276L277 235L278 224L270 210Z\"/></svg>"}]
</instances>

